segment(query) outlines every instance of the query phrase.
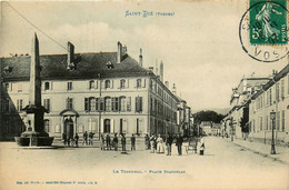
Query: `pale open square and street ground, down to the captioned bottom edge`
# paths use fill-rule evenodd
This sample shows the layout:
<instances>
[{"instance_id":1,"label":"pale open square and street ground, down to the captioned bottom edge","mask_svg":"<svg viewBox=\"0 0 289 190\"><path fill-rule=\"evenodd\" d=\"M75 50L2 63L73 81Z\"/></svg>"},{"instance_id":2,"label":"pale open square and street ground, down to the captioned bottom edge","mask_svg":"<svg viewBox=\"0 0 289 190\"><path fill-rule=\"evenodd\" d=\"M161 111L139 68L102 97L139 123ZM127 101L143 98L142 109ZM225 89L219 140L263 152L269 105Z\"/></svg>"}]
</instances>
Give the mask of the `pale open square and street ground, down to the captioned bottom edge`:
<instances>
[{"instance_id":1,"label":"pale open square and street ground, down to the captioned bottom edge","mask_svg":"<svg viewBox=\"0 0 289 190\"><path fill-rule=\"evenodd\" d=\"M11 142L1 142L0 150L0 189L289 188L288 164L213 137L206 138L203 157L179 157L176 146L171 157L98 148L28 150Z\"/></svg>"}]
</instances>

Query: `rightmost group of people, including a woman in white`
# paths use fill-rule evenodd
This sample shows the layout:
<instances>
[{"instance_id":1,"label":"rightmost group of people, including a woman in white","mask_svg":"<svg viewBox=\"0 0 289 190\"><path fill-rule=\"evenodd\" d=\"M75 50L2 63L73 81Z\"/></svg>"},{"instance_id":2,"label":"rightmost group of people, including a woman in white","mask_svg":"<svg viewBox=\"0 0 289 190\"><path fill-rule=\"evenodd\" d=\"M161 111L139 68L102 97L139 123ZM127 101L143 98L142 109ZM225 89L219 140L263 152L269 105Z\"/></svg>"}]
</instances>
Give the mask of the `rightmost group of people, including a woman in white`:
<instances>
[{"instance_id":1,"label":"rightmost group of people, including a woman in white","mask_svg":"<svg viewBox=\"0 0 289 190\"><path fill-rule=\"evenodd\" d=\"M171 133L168 133L167 137L162 137L161 134L155 136L151 134L149 137L146 134L144 137L144 142L146 142L146 149L151 150L151 153L165 153L165 144L167 148L167 156L171 156L171 146L173 142L176 142L177 149L178 149L178 154L182 154L182 143L183 143L183 138L181 137L180 133L177 136L172 136ZM203 154L205 151L205 140L203 138L200 139L200 154ZM197 149L197 148L196 148Z\"/></svg>"}]
</instances>

